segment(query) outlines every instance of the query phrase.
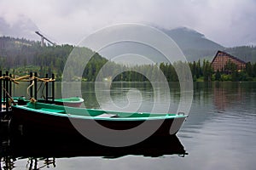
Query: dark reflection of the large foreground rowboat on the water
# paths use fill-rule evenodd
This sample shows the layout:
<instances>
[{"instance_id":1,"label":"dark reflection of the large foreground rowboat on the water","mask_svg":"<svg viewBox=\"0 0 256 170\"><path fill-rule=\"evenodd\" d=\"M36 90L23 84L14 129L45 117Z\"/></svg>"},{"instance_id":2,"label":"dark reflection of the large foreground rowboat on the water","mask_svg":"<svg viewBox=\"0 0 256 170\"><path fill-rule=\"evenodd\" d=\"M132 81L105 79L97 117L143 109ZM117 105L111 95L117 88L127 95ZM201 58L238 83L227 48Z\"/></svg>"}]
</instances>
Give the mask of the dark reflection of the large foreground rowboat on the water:
<instances>
[{"instance_id":1,"label":"dark reflection of the large foreground rowboat on the water","mask_svg":"<svg viewBox=\"0 0 256 170\"><path fill-rule=\"evenodd\" d=\"M1 135L3 137L3 135ZM1 169L12 169L15 161L28 159L26 167L39 169L55 167L56 158L100 156L114 159L121 156L185 156L187 153L176 135L149 138L139 144L126 147L108 147L91 142L84 137L69 138L63 135L37 133L33 135L9 135L1 144ZM40 165L40 167L39 167ZM38 167L37 167L38 166ZM37 167L37 168L36 168Z\"/></svg>"}]
</instances>

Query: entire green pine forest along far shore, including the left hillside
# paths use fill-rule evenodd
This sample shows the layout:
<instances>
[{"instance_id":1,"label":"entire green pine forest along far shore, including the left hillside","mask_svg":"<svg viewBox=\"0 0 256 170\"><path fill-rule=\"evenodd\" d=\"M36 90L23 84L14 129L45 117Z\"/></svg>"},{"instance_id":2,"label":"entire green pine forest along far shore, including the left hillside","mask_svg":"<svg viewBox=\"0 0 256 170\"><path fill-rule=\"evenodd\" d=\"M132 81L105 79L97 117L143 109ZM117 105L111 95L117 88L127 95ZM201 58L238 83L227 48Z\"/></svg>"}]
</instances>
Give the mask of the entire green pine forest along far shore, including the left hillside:
<instances>
[{"instance_id":1,"label":"entire green pine forest along far shore, including the left hillside","mask_svg":"<svg viewBox=\"0 0 256 170\"><path fill-rule=\"evenodd\" d=\"M61 80L62 72L66 64L67 57L73 51L72 45L46 46L41 47L39 42L32 42L26 39L12 37L0 37L0 70L10 71L16 76L22 76L30 71L37 71L39 77L44 77L46 73L55 73L56 79ZM73 60L73 67L69 68L69 80L79 80L87 82L96 81L98 74L101 77L111 77L113 81L126 82L159 82L159 72L161 71L166 80L177 82L177 74L173 65L179 63L160 63L156 65L119 65L100 54L91 51L89 48L79 48L84 56L93 56L84 67L79 59ZM108 66L103 67L108 62ZM213 72L211 62L204 59L189 62L189 68L193 80L196 82L209 81L256 81L256 63L248 62L243 71L238 71L236 65L228 63L226 65L230 72ZM78 69L84 69L83 77L76 77ZM99 72L101 71L101 72ZM116 75L116 77L112 77ZM102 79L103 80L103 79Z\"/></svg>"}]
</instances>

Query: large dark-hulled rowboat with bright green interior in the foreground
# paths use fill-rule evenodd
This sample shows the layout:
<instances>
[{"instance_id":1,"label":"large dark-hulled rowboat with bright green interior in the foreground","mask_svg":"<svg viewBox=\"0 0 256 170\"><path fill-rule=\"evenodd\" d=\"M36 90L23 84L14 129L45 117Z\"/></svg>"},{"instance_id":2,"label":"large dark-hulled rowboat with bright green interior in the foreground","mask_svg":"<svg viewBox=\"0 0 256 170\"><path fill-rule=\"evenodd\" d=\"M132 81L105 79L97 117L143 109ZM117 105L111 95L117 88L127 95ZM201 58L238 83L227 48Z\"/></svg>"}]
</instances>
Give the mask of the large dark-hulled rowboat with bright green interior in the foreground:
<instances>
[{"instance_id":1,"label":"large dark-hulled rowboat with bright green interior in the foreground","mask_svg":"<svg viewBox=\"0 0 256 170\"><path fill-rule=\"evenodd\" d=\"M170 135L170 133L177 133L187 117L184 114L103 111L40 102L13 105L12 110L12 124L15 127L27 127L27 129L33 130L38 127L46 131L60 131L62 133L74 133L76 131L71 122L76 122L81 128L95 131L95 133L98 132L96 132L94 122L115 130L131 129L147 122L148 127L143 127L145 132L150 127L160 124L154 135ZM172 132L170 131L171 126Z\"/></svg>"}]
</instances>

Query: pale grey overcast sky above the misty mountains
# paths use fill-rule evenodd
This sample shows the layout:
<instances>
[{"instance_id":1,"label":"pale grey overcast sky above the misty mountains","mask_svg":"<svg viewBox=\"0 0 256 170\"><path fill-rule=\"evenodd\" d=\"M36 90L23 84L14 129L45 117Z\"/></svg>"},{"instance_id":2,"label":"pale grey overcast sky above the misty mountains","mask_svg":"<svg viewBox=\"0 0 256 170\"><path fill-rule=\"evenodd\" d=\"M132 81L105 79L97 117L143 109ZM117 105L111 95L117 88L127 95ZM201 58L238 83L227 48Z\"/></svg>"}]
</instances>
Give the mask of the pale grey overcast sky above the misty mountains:
<instances>
[{"instance_id":1,"label":"pale grey overcast sky above the misty mountains","mask_svg":"<svg viewBox=\"0 0 256 170\"><path fill-rule=\"evenodd\" d=\"M0 0L0 15L10 26L28 17L58 43L135 22L187 26L225 47L256 45L256 0Z\"/></svg>"}]
</instances>

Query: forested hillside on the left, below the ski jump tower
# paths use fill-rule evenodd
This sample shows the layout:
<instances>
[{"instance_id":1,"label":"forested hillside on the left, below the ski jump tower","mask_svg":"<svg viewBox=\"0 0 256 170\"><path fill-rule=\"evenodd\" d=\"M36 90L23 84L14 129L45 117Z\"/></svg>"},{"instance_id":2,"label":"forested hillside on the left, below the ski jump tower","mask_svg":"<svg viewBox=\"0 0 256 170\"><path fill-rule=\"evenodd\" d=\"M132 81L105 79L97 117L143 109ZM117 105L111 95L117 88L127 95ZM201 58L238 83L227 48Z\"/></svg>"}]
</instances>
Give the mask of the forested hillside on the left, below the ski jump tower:
<instances>
[{"instance_id":1,"label":"forested hillside on the left, below the ski jump tower","mask_svg":"<svg viewBox=\"0 0 256 170\"><path fill-rule=\"evenodd\" d=\"M62 72L67 61L67 57L73 51L72 45L44 46L40 42L28 41L26 39L14 37L0 37L0 70L10 71L16 76L23 76L30 71L38 72L39 77L45 74L55 73L56 79L61 80ZM90 57L90 62L84 71L87 81L93 81L96 71L102 67L108 59L95 54L89 48L80 48L84 56ZM81 67L81 63L74 62L74 69ZM71 68L71 72L73 69ZM73 73L71 73L73 74ZM77 79L77 77L72 77Z\"/></svg>"}]
</instances>

